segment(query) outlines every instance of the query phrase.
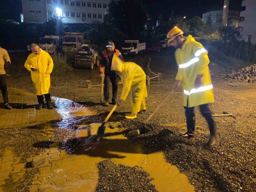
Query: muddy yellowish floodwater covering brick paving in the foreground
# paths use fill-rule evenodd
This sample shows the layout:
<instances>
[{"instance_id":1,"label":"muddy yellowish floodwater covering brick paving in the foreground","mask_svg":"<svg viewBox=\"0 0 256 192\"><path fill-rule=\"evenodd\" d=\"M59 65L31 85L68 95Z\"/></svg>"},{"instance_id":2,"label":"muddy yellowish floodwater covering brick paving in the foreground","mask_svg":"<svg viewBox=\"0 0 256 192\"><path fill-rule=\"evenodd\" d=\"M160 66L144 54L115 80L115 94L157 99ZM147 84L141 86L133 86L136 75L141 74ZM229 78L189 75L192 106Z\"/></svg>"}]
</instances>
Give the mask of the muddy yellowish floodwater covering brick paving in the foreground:
<instances>
[{"instance_id":1,"label":"muddy yellowish floodwater covering brick paving in the foreground","mask_svg":"<svg viewBox=\"0 0 256 192\"><path fill-rule=\"evenodd\" d=\"M103 139L95 142L94 135L102 116L71 100L53 99L54 110L22 108L11 111L16 114L13 115L15 118L19 114L27 114L24 110L33 110L35 117L42 113L40 117L47 123L16 129L35 130L33 135L16 135L17 142L15 138L0 136L0 191L20 189L30 178L29 191L93 192L99 179L97 165L106 159L115 164L142 167L153 178L151 183L157 191L194 191L187 177L176 166L166 163L162 152L146 150L140 143L130 143L120 129L111 129L111 126L106 127ZM29 115L27 119L30 120ZM26 151L17 153L16 150L16 145L22 144L21 140L25 144L33 138L38 142L30 143L26 151L42 149L39 154L45 158L45 162L35 168L28 163L36 154L25 158Z\"/></svg>"}]
</instances>

